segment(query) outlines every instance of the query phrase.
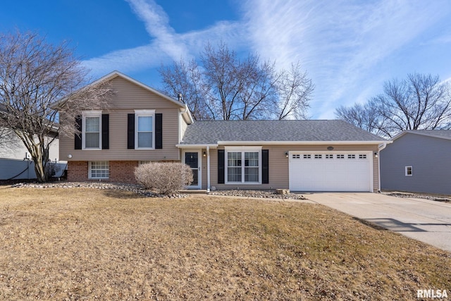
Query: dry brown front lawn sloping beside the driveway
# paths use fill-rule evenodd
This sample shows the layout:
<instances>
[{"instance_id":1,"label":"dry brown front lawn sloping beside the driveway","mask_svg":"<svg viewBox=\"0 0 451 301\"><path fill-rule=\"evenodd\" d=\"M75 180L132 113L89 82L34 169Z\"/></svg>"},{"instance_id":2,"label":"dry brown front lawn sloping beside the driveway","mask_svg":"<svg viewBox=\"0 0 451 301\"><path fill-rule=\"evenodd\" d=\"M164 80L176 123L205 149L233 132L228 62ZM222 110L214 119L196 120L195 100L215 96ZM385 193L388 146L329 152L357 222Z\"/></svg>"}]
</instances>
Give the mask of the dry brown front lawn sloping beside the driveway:
<instances>
[{"instance_id":1,"label":"dry brown front lawn sloping beside the driveway","mask_svg":"<svg viewBox=\"0 0 451 301\"><path fill-rule=\"evenodd\" d=\"M317 204L0 187L0 300L416 300L450 254Z\"/></svg>"}]
</instances>

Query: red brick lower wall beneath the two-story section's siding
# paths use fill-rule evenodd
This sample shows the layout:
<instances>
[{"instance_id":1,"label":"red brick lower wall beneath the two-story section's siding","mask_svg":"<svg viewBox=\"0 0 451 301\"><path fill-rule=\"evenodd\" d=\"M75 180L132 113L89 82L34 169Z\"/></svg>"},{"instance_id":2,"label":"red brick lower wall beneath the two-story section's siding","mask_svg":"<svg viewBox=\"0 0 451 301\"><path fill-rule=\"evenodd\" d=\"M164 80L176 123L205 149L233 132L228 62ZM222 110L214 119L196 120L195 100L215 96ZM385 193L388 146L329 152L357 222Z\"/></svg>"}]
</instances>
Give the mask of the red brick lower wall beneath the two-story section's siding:
<instances>
[{"instance_id":1,"label":"red brick lower wall beneath the two-story section's siding","mask_svg":"<svg viewBox=\"0 0 451 301\"><path fill-rule=\"evenodd\" d=\"M109 179L102 179L102 181L115 183L136 183L135 167L137 166L138 161L109 161ZM69 161L68 181L84 182L87 180L98 180L88 178L88 162Z\"/></svg>"}]
</instances>

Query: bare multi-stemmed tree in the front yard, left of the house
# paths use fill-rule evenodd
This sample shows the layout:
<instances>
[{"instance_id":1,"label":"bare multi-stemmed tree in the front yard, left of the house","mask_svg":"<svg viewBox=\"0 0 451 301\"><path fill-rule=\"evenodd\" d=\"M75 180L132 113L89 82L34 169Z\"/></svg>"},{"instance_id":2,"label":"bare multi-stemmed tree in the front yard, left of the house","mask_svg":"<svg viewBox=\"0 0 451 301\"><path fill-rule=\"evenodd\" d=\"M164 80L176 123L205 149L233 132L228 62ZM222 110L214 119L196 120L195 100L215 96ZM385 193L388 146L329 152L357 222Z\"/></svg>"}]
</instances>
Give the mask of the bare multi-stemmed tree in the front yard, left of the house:
<instances>
[{"instance_id":1,"label":"bare multi-stemmed tree in the front yard, left of the house","mask_svg":"<svg viewBox=\"0 0 451 301\"><path fill-rule=\"evenodd\" d=\"M27 147L35 163L37 180L49 180L49 146L58 133L75 131L75 117L83 107L101 106L109 94L102 85L78 90L87 71L73 56L67 42L48 44L34 32L0 35L0 128L8 128ZM59 125L58 111L74 120Z\"/></svg>"}]
</instances>

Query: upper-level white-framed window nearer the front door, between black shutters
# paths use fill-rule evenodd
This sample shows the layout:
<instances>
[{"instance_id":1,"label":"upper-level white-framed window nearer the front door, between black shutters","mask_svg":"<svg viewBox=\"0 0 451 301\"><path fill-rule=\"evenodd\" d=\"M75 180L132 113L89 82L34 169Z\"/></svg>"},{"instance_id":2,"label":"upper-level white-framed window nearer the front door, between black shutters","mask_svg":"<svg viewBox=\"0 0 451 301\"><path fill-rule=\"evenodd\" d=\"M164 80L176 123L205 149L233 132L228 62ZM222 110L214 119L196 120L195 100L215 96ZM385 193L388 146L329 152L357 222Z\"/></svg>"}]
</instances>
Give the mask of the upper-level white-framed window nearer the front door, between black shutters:
<instances>
[{"instance_id":1,"label":"upper-level white-framed window nearer the front door, between black shutters","mask_svg":"<svg viewBox=\"0 0 451 301\"><path fill-rule=\"evenodd\" d=\"M135 110L135 149L155 149L155 110Z\"/></svg>"}]
</instances>

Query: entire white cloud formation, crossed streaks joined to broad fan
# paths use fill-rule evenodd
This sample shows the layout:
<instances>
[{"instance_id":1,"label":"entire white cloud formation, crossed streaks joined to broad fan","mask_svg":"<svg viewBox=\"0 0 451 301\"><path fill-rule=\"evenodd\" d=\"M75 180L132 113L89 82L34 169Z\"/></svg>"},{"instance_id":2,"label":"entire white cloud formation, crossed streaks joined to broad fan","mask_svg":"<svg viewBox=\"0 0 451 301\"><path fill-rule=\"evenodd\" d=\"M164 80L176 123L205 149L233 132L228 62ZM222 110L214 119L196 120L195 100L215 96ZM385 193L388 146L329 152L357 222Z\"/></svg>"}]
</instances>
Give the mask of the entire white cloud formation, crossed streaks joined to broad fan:
<instances>
[{"instance_id":1,"label":"entire white cloud formation, crossed streaks joined to broad fan","mask_svg":"<svg viewBox=\"0 0 451 301\"><path fill-rule=\"evenodd\" d=\"M85 61L97 75L156 68L197 56L206 42L221 40L230 49L276 60L278 68L299 61L316 85L314 118L334 118L335 107L376 94L392 77L380 66L451 11L447 0L243 0L237 2L242 20L180 34L154 0L126 1L144 23L150 42ZM445 33L435 42L449 41Z\"/></svg>"}]
</instances>

